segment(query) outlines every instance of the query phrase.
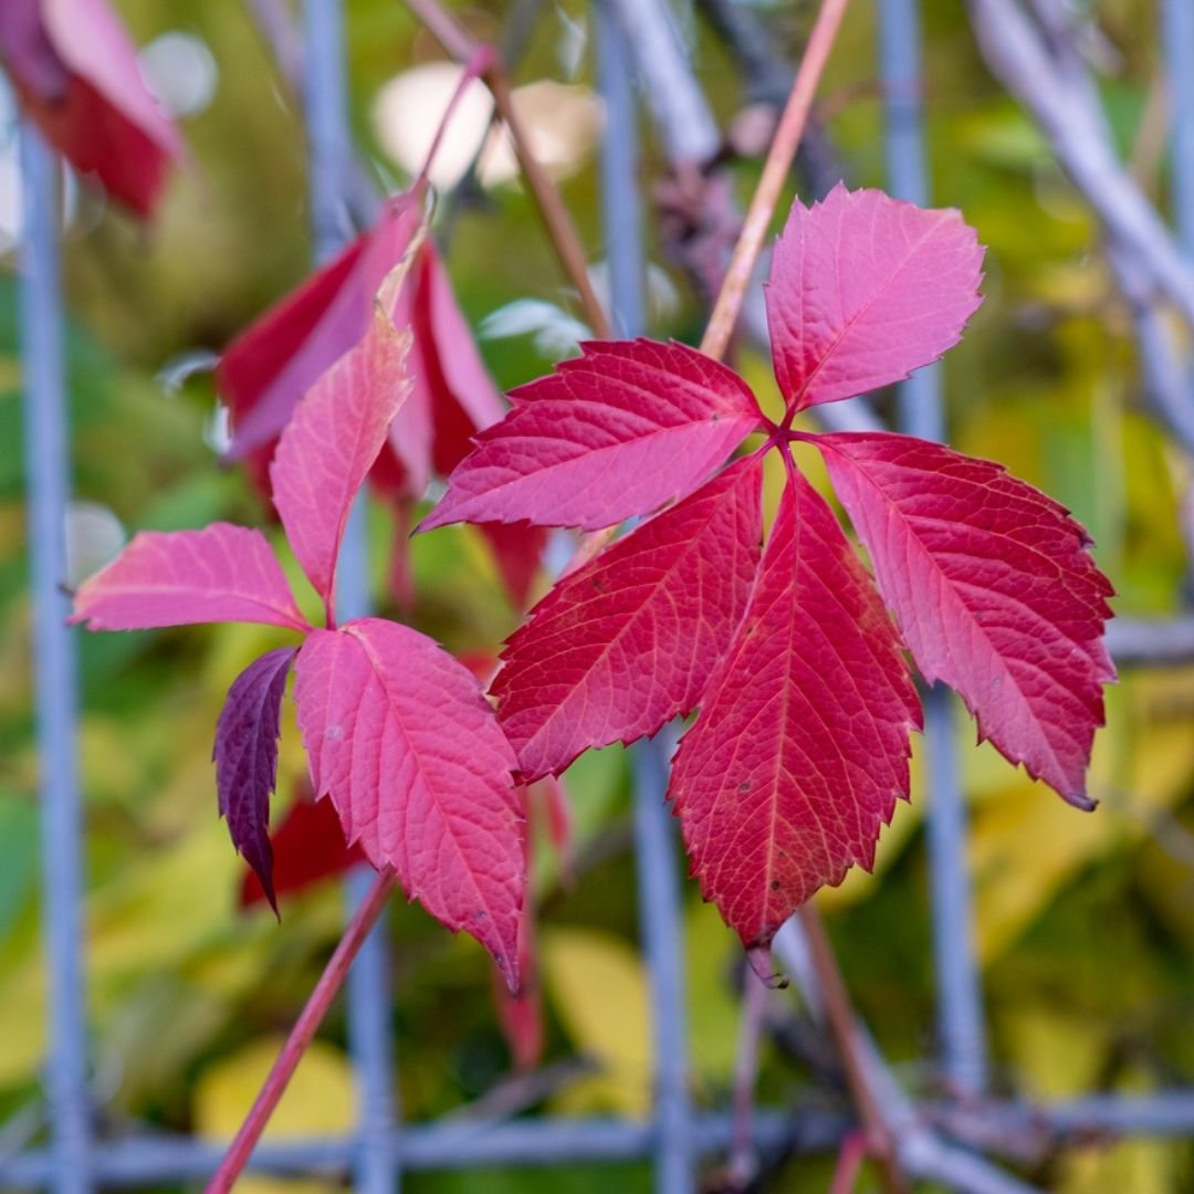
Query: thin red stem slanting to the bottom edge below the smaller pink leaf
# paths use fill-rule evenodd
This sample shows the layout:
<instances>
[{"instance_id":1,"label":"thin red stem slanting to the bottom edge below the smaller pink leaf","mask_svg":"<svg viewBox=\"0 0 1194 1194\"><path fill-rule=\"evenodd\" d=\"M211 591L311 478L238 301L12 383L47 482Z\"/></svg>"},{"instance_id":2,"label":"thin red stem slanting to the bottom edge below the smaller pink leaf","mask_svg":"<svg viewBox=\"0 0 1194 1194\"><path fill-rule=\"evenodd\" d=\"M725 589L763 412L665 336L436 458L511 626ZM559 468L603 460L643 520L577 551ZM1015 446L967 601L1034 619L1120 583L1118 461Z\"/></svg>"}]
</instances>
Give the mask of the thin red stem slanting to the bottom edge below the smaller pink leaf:
<instances>
[{"instance_id":1,"label":"thin red stem slanting to the bottom edge below the smaller pink leaf","mask_svg":"<svg viewBox=\"0 0 1194 1194\"><path fill-rule=\"evenodd\" d=\"M310 992L310 997L302 1009L302 1015L290 1029L290 1035L287 1038L285 1045L282 1046L282 1052L273 1063L273 1069L270 1070L265 1084L257 1098L253 1100L253 1106L250 1108L245 1122L241 1124L228 1146L215 1177L208 1182L205 1194L227 1194L245 1165L248 1164L248 1158L278 1106L278 1101L287 1089L287 1083L290 1082L300 1060L302 1060L303 1052L315 1035L324 1016L327 1015L327 1009L340 990L349 967L352 965L352 959L356 958L365 937L369 936L369 930L381 916L386 900L389 899L389 893L393 890L394 873L387 868L377 875L373 887L369 888L368 894L352 913L352 919L349 922L340 943L336 947L336 953L332 954L324 968L324 973L315 984L315 990Z\"/></svg>"}]
</instances>

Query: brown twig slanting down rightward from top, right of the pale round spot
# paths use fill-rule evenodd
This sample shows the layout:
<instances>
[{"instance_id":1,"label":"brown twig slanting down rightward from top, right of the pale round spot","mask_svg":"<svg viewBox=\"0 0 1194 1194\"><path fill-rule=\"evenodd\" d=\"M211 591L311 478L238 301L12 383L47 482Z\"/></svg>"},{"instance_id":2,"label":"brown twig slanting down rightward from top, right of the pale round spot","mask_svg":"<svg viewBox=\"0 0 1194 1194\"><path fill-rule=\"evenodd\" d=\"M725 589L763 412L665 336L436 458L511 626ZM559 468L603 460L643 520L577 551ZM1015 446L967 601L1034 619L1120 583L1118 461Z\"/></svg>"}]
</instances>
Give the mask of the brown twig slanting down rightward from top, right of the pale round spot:
<instances>
[{"instance_id":1,"label":"brown twig slanting down rightward from top, right of the pale round spot","mask_svg":"<svg viewBox=\"0 0 1194 1194\"><path fill-rule=\"evenodd\" d=\"M479 49L479 43L456 21L455 17L441 6L439 0L405 0L405 2L411 12L423 21L427 32L457 62L466 63L473 59ZM564 266L564 272L577 290L585 320L601 339L611 339L614 331L605 315L605 308L602 307L597 291L593 290L589 278L584 246L580 244L580 238L564 201L560 198L555 183L552 181L531 149L527 130L515 111L510 80L506 78L505 69L497 55L482 78L493 94L498 115L510 130L510 140L513 143L523 178L527 179L527 186L538 208L540 217L547 228L548 239L555 248L560 264Z\"/></svg>"}]
</instances>

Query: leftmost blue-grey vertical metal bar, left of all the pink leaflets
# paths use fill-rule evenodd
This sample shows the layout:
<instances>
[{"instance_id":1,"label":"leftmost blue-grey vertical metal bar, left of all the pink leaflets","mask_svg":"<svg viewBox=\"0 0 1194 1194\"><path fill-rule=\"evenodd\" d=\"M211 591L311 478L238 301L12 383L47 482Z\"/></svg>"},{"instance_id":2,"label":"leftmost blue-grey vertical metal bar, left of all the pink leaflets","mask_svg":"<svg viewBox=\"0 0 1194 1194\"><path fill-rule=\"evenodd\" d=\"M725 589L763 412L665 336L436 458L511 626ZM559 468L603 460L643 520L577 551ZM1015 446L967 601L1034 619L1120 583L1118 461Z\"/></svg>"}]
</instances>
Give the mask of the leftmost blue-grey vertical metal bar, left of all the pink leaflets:
<instances>
[{"instance_id":1,"label":"leftmost blue-grey vertical metal bar, left of all the pink leaflets","mask_svg":"<svg viewBox=\"0 0 1194 1194\"><path fill-rule=\"evenodd\" d=\"M45 1085L59 1194L90 1189L87 1024L84 995L82 814L75 755L78 684L66 580L69 416L59 279L57 160L32 128L20 137L21 370L33 672L41 799L43 934L49 953ZM16 1028L16 1026L12 1026Z\"/></svg>"}]
</instances>

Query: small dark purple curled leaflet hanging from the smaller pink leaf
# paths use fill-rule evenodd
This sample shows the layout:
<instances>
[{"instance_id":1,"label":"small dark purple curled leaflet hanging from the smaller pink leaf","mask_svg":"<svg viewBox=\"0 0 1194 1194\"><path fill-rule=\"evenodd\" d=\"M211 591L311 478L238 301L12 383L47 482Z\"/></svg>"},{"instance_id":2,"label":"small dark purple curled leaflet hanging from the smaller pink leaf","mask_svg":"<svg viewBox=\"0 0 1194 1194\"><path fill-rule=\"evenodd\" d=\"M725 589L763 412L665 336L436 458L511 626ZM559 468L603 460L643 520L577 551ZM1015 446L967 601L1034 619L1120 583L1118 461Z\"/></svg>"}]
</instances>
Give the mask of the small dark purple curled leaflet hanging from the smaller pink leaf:
<instances>
[{"instance_id":1,"label":"small dark purple curled leaflet hanging from the smaller pink leaf","mask_svg":"<svg viewBox=\"0 0 1194 1194\"><path fill-rule=\"evenodd\" d=\"M279 647L254 659L228 689L216 721L216 793L228 820L232 844L253 868L275 912L270 850L270 796L278 781L282 697L295 647Z\"/></svg>"}]
</instances>

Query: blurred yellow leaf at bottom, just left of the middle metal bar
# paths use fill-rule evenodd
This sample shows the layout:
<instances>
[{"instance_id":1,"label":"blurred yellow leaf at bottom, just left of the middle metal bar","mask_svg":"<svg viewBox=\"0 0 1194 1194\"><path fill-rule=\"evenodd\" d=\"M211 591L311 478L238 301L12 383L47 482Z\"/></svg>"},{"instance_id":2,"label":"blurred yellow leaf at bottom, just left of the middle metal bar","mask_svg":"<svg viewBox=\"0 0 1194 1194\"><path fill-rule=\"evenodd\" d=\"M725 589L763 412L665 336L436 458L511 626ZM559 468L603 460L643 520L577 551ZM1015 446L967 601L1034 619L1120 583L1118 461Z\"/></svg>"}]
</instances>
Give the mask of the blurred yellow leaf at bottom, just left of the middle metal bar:
<instances>
[{"instance_id":1,"label":"blurred yellow leaf at bottom, just left of the middle metal bar","mask_svg":"<svg viewBox=\"0 0 1194 1194\"><path fill-rule=\"evenodd\" d=\"M564 1091L556 1107L645 1119L651 1030L642 960L620 937L591 929L559 929L544 935L542 948L555 1010L577 1051L601 1066Z\"/></svg>"}]
</instances>

